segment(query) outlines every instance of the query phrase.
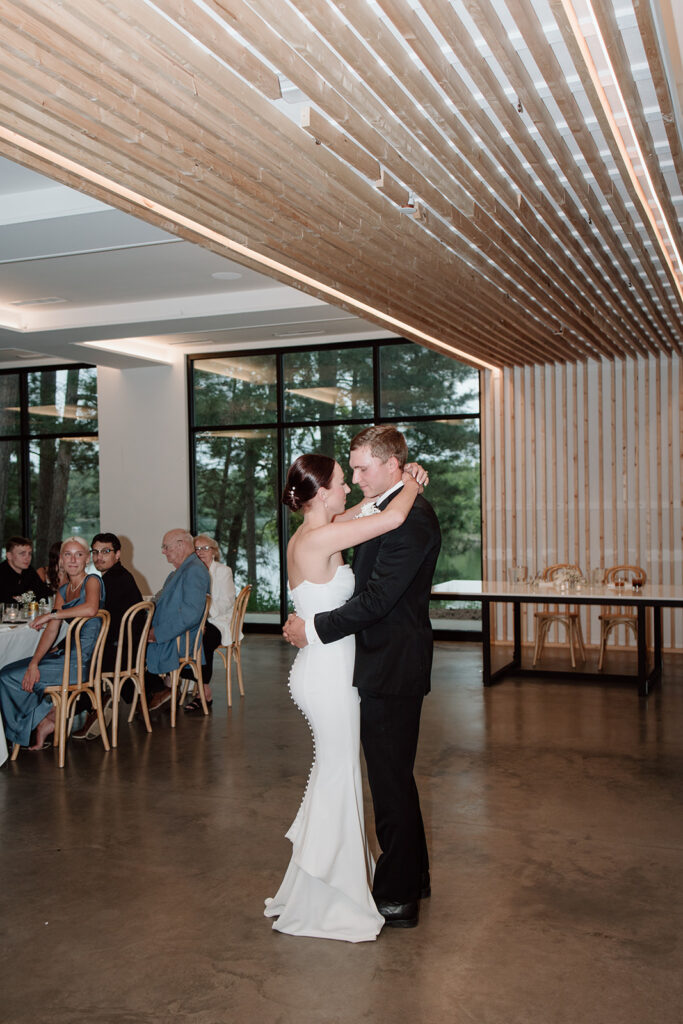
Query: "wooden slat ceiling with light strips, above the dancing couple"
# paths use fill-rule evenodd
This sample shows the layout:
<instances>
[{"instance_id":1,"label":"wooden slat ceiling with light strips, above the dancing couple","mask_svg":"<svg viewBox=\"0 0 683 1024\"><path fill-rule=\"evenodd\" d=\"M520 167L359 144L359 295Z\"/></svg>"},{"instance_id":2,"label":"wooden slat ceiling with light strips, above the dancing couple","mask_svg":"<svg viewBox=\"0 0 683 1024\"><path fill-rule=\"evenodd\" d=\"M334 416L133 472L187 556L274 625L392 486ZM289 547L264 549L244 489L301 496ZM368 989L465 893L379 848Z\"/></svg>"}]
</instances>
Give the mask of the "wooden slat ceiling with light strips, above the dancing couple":
<instances>
[{"instance_id":1,"label":"wooden slat ceiling with light strips, above the dancing couple","mask_svg":"<svg viewBox=\"0 0 683 1024\"><path fill-rule=\"evenodd\" d=\"M620 145L572 2L5 0L0 153L475 361L680 352L666 54L593 0Z\"/></svg>"}]
</instances>

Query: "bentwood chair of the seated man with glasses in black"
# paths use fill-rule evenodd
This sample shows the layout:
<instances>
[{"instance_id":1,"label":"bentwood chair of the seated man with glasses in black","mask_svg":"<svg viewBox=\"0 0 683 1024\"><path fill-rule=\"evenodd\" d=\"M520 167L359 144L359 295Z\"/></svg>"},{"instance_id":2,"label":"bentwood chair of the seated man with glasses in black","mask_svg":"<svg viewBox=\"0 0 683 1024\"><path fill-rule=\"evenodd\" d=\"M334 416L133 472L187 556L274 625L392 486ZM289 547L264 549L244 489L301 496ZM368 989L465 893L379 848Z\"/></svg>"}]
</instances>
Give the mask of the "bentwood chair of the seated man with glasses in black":
<instances>
[{"instance_id":1,"label":"bentwood chair of the seated man with glasses in black","mask_svg":"<svg viewBox=\"0 0 683 1024\"><path fill-rule=\"evenodd\" d=\"M147 646L147 635L155 613L154 601L138 601L132 604L121 620L119 627L119 642L117 644L116 663L113 672L102 672L102 684L112 693L112 746L119 742L119 700L123 684L130 679L135 687L135 694L130 706L128 721L132 722L140 701L142 718L147 732L152 732L147 699L144 693L144 654Z\"/></svg>"}]
</instances>

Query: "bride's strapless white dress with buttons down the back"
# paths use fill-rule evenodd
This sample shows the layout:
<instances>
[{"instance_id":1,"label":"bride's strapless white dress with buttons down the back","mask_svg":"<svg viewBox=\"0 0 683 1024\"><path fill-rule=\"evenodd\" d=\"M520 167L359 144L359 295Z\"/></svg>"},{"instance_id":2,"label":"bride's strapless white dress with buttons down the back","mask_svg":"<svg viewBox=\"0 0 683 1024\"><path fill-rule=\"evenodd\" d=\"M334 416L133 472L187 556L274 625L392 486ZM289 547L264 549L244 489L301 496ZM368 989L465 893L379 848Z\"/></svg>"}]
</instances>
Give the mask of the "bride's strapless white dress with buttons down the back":
<instances>
[{"instance_id":1,"label":"bride's strapless white dress with buttons down the back","mask_svg":"<svg viewBox=\"0 0 683 1024\"><path fill-rule=\"evenodd\" d=\"M339 607L353 593L353 571L340 565L329 583L304 581L292 593L302 618ZM314 760L287 838L292 859L265 915L290 935L364 942L384 919L372 894L375 864L368 849L360 778L359 697L352 685L354 637L299 651L290 692L306 717Z\"/></svg>"}]
</instances>

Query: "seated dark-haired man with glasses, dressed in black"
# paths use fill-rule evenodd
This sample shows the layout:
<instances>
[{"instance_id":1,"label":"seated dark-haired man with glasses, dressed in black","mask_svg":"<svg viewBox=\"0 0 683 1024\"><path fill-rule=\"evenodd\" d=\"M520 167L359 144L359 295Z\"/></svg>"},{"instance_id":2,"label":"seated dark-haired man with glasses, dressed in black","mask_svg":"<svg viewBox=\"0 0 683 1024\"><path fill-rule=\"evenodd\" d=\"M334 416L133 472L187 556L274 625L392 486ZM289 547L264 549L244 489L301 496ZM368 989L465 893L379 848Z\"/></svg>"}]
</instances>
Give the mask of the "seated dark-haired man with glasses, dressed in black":
<instances>
[{"instance_id":1,"label":"seated dark-haired man with glasses, dressed in black","mask_svg":"<svg viewBox=\"0 0 683 1024\"><path fill-rule=\"evenodd\" d=\"M104 642L102 653L102 672L114 672L116 668L116 655L119 647L119 631L121 630L121 620L133 605L142 600L140 589L135 583L133 575L121 564L121 541L116 534L95 534L90 547L92 562L98 572L101 572L104 581L104 608L110 613L110 631ZM137 628L137 635L135 635ZM142 631L142 616L133 623L133 640L137 639ZM130 703L135 693L132 680L127 679L123 684L121 696ZM83 699L83 698L81 698ZM87 697L85 698L87 701ZM90 707L87 701L86 708ZM112 721L112 695L104 701L104 721L109 725ZM99 735L99 722L97 712L91 710L80 729L72 733L73 739L94 739Z\"/></svg>"}]
</instances>

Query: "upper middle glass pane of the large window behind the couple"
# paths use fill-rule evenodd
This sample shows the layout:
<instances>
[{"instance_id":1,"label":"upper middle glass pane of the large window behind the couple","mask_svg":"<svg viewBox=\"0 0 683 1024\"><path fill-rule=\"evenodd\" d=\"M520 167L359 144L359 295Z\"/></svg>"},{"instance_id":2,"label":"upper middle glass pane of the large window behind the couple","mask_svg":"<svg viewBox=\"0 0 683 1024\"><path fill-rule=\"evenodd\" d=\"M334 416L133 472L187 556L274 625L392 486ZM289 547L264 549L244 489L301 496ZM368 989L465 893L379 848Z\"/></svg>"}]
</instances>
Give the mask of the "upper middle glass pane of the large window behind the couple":
<instances>
[{"instance_id":1,"label":"upper middle glass pane of the large window behind the couple","mask_svg":"<svg viewBox=\"0 0 683 1024\"><path fill-rule=\"evenodd\" d=\"M371 348L324 347L284 358L285 418L357 419L373 415Z\"/></svg>"}]
</instances>

